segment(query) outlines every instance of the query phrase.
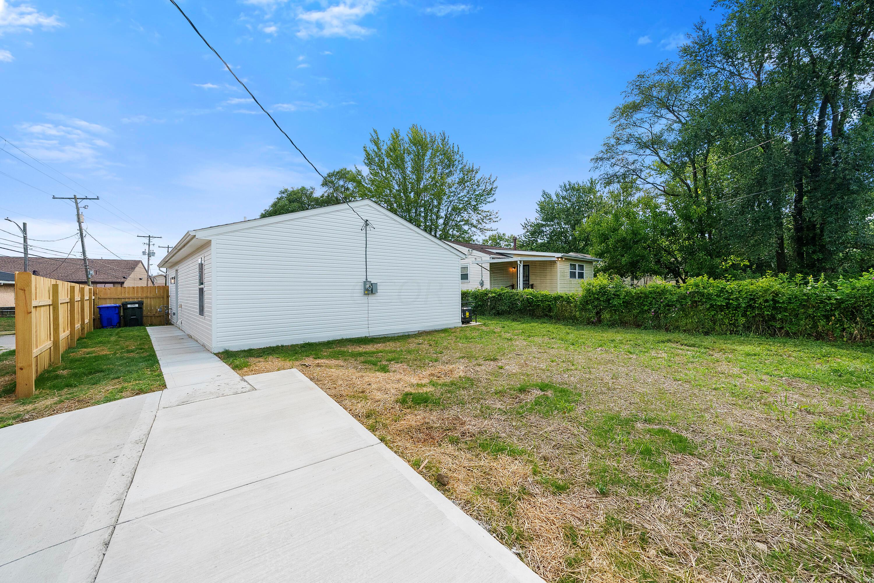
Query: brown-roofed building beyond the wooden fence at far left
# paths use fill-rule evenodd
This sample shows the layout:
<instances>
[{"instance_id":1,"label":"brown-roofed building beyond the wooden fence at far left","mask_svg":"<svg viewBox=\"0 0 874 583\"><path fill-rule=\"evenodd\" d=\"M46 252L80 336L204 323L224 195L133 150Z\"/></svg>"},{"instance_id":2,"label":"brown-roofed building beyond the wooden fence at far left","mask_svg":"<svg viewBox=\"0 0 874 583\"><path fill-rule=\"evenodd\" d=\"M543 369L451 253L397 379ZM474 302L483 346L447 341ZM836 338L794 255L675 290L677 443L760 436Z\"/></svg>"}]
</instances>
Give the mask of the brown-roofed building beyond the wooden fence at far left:
<instances>
[{"instance_id":1,"label":"brown-roofed building beyond the wooden fence at far left","mask_svg":"<svg viewBox=\"0 0 874 583\"><path fill-rule=\"evenodd\" d=\"M91 276L94 287L150 285L146 268L139 259L88 259L88 268L94 271ZM86 283L81 259L27 257L27 269L42 278ZM0 271L24 271L24 257L0 257Z\"/></svg>"}]
</instances>

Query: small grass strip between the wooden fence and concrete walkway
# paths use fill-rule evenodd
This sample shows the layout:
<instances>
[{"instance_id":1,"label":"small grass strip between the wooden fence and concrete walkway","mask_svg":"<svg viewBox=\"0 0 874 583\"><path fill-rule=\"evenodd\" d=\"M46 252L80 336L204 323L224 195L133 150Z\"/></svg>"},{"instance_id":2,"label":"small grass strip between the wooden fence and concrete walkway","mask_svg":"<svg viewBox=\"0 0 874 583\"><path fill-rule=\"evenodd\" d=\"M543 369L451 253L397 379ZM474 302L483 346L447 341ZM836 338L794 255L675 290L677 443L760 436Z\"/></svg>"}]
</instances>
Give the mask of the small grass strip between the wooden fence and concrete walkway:
<instances>
[{"instance_id":1,"label":"small grass strip between the wooden fence and concrete walkway","mask_svg":"<svg viewBox=\"0 0 874 583\"><path fill-rule=\"evenodd\" d=\"M163 388L145 327L94 330L37 377L27 399L15 398L15 351L0 353L0 427Z\"/></svg>"}]
</instances>

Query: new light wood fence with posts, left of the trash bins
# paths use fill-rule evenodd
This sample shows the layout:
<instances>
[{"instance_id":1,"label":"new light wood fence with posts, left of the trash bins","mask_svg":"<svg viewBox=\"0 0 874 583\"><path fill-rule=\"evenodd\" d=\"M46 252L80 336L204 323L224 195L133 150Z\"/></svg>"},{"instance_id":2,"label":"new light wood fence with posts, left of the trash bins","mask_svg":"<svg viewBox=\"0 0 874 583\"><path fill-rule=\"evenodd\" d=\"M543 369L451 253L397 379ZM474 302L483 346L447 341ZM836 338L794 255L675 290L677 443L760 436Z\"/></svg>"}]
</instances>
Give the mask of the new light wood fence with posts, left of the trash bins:
<instances>
[{"instance_id":1,"label":"new light wood fence with posts, left of the trash bins","mask_svg":"<svg viewBox=\"0 0 874 583\"><path fill-rule=\"evenodd\" d=\"M15 273L15 396L30 397L34 381L76 340L94 329L94 288L27 271Z\"/></svg>"}]
</instances>

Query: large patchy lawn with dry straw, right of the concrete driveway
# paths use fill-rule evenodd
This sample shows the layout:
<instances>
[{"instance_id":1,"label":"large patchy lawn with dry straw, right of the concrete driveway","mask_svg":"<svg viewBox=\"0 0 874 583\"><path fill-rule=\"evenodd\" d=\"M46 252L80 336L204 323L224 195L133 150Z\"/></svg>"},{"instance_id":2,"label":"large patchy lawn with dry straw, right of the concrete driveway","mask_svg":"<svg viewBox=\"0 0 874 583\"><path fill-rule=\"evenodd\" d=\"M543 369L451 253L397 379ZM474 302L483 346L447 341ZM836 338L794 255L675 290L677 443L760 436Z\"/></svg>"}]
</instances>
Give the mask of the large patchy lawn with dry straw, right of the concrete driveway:
<instances>
[{"instance_id":1,"label":"large patchy lawn with dry straw, right of the concrete driveway","mask_svg":"<svg viewBox=\"0 0 874 583\"><path fill-rule=\"evenodd\" d=\"M874 347L485 319L298 367L546 580L874 577Z\"/></svg>"}]
</instances>

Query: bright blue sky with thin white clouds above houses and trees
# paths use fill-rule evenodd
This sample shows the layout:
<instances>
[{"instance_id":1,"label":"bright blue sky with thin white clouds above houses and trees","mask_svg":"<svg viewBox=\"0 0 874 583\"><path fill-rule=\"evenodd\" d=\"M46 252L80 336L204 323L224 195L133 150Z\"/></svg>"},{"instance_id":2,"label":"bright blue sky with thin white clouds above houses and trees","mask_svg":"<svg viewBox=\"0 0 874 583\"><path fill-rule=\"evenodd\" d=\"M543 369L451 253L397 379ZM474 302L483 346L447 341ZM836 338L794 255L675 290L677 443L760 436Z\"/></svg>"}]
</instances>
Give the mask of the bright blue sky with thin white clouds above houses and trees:
<instances>
[{"instance_id":1,"label":"bright blue sky with thin white clouds above houses and trees","mask_svg":"<svg viewBox=\"0 0 874 583\"><path fill-rule=\"evenodd\" d=\"M323 172L360 165L371 128L445 130L496 175L496 226L514 233L542 189L590 176L628 80L717 16L708 2L180 5ZM72 187L0 152L0 218L66 237L73 209L50 195L101 195L85 211L89 256L142 257L135 235L173 244L318 182L164 0L0 0L0 86L0 135L79 183L0 141ZM14 239L0 231L0 254Z\"/></svg>"}]
</instances>

